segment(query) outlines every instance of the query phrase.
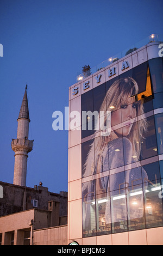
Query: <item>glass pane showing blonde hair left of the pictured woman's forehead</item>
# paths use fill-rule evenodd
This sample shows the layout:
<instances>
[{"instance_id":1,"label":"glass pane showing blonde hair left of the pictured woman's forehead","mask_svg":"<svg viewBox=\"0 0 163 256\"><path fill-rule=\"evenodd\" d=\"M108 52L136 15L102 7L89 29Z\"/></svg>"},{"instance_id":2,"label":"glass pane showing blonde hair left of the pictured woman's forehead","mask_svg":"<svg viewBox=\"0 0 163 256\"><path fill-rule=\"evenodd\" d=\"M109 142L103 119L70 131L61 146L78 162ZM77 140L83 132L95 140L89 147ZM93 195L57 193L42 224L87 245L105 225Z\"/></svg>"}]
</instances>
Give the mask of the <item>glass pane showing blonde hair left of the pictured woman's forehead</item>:
<instances>
[{"instance_id":1,"label":"glass pane showing blonde hair left of the pictured woman's forehead","mask_svg":"<svg viewBox=\"0 0 163 256\"><path fill-rule=\"evenodd\" d=\"M117 76L106 82L106 108L107 111L113 111L120 107L120 87L119 79Z\"/></svg>"}]
</instances>

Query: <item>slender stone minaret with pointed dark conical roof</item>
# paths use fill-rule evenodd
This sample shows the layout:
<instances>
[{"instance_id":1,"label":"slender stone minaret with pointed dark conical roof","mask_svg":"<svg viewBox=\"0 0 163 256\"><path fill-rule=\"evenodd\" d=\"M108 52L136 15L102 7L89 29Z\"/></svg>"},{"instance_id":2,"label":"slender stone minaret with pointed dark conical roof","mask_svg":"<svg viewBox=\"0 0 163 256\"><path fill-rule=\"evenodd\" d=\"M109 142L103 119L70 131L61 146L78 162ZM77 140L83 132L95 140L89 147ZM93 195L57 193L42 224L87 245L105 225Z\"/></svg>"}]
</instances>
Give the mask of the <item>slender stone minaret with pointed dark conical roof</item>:
<instances>
[{"instance_id":1,"label":"slender stone minaret with pointed dark conical roof","mask_svg":"<svg viewBox=\"0 0 163 256\"><path fill-rule=\"evenodd\" d=\"M20 113L17 119L17 138L12 139L11 148L15 152L14 181L13 184L26 186L27 157L33 149L33 141L28 139L29 110L27 99L27 86L23 96Z\"/></svg>"}]
</instances>

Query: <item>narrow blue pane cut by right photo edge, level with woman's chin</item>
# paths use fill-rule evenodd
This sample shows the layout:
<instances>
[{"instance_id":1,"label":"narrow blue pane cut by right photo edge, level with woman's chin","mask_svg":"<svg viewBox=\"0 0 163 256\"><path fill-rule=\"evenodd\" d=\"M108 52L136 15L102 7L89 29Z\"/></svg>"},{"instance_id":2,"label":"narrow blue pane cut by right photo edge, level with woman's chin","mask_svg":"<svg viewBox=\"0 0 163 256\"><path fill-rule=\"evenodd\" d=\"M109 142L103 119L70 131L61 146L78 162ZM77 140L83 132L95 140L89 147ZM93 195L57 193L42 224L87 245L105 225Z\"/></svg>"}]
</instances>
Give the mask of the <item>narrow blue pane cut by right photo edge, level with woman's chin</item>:
<instances>
[{"instance_id":1,"label":"narrow blue pane cut by right photo edge, level with woman's chin","mask_svg":"<svg viewBox=\"0 0 163 256\"><path fill-rule=\"evenodd\" d=\"M158 154L163 154L163 113L156 114L155 118L155 130L156 138L158 142Z\"/></svg>"}]
</instances>

